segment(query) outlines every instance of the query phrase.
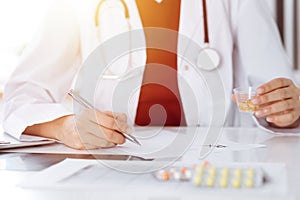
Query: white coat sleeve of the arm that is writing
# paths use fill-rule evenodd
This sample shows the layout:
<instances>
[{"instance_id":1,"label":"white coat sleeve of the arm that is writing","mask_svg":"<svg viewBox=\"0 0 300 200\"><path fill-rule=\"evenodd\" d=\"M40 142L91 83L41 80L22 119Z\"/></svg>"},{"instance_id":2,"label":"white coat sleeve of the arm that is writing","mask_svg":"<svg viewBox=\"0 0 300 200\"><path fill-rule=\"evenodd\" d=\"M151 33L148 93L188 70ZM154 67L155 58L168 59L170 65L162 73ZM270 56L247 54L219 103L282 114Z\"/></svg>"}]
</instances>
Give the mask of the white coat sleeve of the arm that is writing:
<instances>
[{"instance_id":1,"label":"white coat sleeve of the arm that is writing","mask_svg":"<svg viewBox=\"0 0 300 200\"><path fill-rule=\"evenodd\" d=\"M61 102L80 65L79 27L67 1L49 9L4 90L4 131L19 139L27 126L72 114Z\"/></svg>"}]
</instances>

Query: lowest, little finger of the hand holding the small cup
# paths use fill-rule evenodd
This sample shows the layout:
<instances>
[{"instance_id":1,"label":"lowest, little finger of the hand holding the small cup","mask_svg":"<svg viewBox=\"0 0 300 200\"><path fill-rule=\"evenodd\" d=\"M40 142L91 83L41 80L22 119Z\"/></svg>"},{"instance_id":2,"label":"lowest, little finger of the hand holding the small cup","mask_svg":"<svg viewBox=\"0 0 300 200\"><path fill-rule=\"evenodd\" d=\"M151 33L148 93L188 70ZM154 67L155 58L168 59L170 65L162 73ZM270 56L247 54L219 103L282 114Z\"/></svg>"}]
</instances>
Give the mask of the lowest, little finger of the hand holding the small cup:
<instances>
[{"instance_id":1,"label":"lowest, little finger of the hand holding the small cup","mask_svg":"<svg viewBox=\"0 0 300 200\"><path fill-rule=\"evenodd\" d=\"M299 118L299 111L290 110L282 114L270 115L267 117L267 121L275 124L278 127L287 127L293 124Z\"/></svg>"}]
</instances>

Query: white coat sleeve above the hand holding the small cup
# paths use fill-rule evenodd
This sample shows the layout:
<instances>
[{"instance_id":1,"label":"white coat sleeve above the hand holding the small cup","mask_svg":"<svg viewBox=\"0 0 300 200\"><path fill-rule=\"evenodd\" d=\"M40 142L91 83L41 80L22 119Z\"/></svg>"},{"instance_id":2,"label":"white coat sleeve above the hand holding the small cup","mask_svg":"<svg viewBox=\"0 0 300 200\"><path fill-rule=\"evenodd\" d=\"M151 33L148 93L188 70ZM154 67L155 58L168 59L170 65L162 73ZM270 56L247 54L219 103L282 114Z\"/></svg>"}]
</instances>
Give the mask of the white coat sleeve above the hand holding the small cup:
<instances>
[{"instance_id":1,"label":"white coat sleeve above the hand holding the small cup","mask_svg":"<svg viewBox=\"0 0 300 200\"><path fill-rule=\"evenodd\" d=\"M244 76L249 85L259 86L278 77L293 78L292 67L266 2L236 0L234 7L236 79ZM242 69L237 69L240 67Z\"/></svg>"}]
</instances>

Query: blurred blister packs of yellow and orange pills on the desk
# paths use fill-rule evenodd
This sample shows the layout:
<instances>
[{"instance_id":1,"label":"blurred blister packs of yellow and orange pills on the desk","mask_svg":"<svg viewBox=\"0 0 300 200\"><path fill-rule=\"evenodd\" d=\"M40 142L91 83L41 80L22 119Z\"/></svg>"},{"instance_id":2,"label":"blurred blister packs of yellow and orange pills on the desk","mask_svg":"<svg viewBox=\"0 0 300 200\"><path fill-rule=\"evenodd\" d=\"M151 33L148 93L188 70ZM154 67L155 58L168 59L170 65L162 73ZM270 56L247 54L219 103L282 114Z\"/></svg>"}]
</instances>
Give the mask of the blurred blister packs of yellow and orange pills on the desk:
<instances>
[{"instance_id":1,"label":"blurred blister packs of yellow and orange pills on the desk","mask_svg":"<svg viewBox=\"0 0 300 200\"><path fill-rule=\"evenodd\" d=\"M170 167L154 173L160 181L191 182L205 188L258 188L265 182L263 170L257 166L211 165L204 162L191 167Z\"/></svg>"}]
</instances>

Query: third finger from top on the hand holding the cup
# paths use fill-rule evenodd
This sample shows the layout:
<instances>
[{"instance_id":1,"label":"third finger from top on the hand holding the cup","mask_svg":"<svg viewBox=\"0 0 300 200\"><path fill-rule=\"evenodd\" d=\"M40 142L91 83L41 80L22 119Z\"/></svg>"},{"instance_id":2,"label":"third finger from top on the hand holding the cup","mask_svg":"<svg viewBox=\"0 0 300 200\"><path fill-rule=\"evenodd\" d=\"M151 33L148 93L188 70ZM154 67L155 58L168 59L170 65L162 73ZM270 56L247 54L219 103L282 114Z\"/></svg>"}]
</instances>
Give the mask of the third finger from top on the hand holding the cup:
<instances>
[{"instance_id":1,"label":"third finger from top on the hand holding the cup","mask_svg":"<svg viewBox=\"0 0 300 200\"><path fill-rule=\"evenodd\" d=\"M266 117L268 115L277 114L295 108L299 108L299 101L295 101L295 99L288 99L265 106L256 111L255 115L256 117Z\"/></svg>"}]
</instances>

